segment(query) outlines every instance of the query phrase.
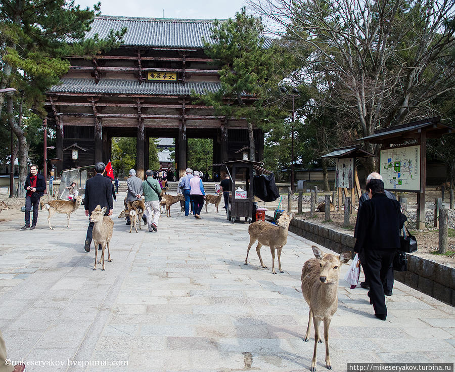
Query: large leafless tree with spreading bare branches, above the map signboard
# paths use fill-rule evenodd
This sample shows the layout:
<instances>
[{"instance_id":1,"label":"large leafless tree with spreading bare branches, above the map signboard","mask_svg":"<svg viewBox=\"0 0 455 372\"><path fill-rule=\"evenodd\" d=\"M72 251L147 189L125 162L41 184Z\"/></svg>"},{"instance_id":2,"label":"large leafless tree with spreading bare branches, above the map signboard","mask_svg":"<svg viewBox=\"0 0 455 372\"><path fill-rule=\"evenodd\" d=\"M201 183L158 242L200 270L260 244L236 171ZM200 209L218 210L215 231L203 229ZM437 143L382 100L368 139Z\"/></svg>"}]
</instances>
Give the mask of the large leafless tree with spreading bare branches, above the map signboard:
<instances>
[{"instance_id":1,"label":"large leafless tree with spreading bare branches, above the map signboard","mask_svg":"<svg viewBox=\"0 0 455 372\"><path fill-rule=\"evenodd\" d=\"M318 111L362 136L439 114L453 92L454 0L250 0L300 58L302 79L317 86ZM307 57L310 51L309 58ZM368 145L378 154L377 145ZM368 171L377 168L368 158Z\"/></svg>"}]
</instances>

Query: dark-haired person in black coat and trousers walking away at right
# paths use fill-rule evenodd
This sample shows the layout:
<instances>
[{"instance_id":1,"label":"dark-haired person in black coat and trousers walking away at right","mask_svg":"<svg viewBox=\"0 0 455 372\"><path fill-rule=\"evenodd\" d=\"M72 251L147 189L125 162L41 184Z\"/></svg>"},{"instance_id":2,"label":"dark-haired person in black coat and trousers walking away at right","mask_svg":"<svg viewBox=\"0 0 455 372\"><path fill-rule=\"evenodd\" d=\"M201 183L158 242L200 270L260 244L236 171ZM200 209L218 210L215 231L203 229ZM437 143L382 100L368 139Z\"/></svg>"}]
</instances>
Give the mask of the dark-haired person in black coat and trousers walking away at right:
<instances>
[{"instance_id":1,"label":"dark-haired person in black coat and trousers walking away at right","mask_svg":"<svg viewBox=\"0 0 455 372\"><path fill-rule=\"evenodd\" d=\"M400 248L400 203L384 194L384 182L372 179L367 184L370 197L358 211L357 240L354 251L364 258L363 268L370 280L370 303L375 316L387 317L383 282L396 249Z\"/></svg>"}]
</instances>

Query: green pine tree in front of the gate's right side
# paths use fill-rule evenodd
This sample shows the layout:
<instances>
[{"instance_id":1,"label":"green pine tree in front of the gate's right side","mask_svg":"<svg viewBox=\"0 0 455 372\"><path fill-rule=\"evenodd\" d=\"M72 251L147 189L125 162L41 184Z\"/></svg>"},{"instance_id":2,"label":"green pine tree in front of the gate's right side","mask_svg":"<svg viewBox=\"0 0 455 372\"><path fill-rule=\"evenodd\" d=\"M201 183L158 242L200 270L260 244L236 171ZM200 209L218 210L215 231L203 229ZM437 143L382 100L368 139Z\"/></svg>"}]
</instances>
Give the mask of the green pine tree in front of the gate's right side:
<instances>
[{"instance_id":1,"label":"green pine tree in front of the gate's right side","mask_svg":"<svg viewBox=\"0 0 455 372\"><path fill-rule=\"evenodd\" d=\"M250 160L255 159L253 125L266 129L267 123L279 122L269 100L277 90L280 75L278 45L265 47L260 19L248 16L245 8L236 18L225 22L215 20L212 42L205 41L206 54L220 65L221 89L197 96L206 105L213 106L217 116L226 119L245 119L248 125ZM246 99L252 102L245 102Z\"/></svg>"}]
</instances>

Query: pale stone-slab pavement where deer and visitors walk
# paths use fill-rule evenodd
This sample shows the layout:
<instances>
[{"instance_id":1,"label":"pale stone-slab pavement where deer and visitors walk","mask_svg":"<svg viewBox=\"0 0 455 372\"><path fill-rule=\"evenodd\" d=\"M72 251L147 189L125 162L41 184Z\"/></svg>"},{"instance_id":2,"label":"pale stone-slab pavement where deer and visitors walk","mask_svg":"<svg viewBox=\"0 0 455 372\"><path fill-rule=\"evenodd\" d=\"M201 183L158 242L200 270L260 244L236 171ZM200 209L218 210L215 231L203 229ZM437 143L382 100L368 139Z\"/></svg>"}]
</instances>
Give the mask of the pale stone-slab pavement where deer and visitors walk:
<instances>
[{"instance_id":1,"label":"pale stone-slab pavement where deer and visitors walk","mask_svg":"<svg viewBox=\"0 0 455 372\"><path fill-rule=\"evenodd\" d=\"M83 207L70 230L66 216L55 215L51 231L45 211L34 231L19 230L23 220L0 223L0 330L9 358L50 364L28 371L308 370L314 332L302 341L308 306L300 275L311 242L289 233L285 272L273 275L267 247L269 269L254 248L243 264L248 224L228 222L221 206L219 214L204 207L195 220L176 204L158 232L128 234L117 219L123 197L114 203L106 271L92 270L93 246L83 250ZM455 360L455 308L398 282L387 307L387 321L376 319L367 291L341 278L330 330L334 370L347 362ZM319 370L324 350L320 344ZM98 361L109 366L77 365ZM128 365L112 365L122 361Z\"/></svg>"}]
</instances>

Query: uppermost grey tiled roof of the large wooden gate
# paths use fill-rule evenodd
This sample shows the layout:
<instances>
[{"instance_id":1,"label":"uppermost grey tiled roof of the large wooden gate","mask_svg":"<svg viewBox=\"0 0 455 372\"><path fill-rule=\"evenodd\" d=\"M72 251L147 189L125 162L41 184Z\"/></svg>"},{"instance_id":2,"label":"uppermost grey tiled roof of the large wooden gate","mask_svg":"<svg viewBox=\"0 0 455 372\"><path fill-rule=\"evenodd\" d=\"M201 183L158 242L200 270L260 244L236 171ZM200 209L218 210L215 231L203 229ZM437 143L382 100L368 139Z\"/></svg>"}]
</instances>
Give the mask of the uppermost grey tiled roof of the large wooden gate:
<instances>
[{"instance_id":1,"label":"uppermost grey tiled roof of the large wooden gate","mask_svg":"<svg viewBox=\"0 0 455 372\"><path fill-rule=\"evenodd\" d=\"M90 38L98 34L103 39L109 31L127 28L122 45L158 46L162 48L203 48L203 39L212 42L211 19L167 19L100 16L95 17L92 29L86 34ZM223 22L224 20L219 20ZM268 48L271 39L266 38L264 46Z\"/></svg>"}]
</instances>

